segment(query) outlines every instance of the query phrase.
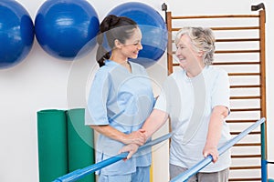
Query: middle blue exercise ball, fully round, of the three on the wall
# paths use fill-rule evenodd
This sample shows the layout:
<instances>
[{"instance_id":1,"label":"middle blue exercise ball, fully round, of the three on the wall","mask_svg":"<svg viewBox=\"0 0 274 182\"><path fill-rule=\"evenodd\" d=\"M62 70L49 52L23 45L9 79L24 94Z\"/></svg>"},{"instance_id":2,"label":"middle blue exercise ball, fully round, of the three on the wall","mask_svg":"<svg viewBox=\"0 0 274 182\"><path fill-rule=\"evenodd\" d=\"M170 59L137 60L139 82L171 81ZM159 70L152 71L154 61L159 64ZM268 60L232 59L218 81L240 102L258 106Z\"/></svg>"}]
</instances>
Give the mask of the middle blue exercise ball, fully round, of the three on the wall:
<instances>
[{"instance_id":1,"label":"middle blue exercise ball, fully round, of the three on the wall","mask_svg":"<svg viewBox=\"0 0 274 182\"><path fill-rule=\"evenodd\" d=\"M47 0L37 11L35 31L47 54L73 60L96 45L99 19L86 0Z\"/></svg>"}]
</instances>

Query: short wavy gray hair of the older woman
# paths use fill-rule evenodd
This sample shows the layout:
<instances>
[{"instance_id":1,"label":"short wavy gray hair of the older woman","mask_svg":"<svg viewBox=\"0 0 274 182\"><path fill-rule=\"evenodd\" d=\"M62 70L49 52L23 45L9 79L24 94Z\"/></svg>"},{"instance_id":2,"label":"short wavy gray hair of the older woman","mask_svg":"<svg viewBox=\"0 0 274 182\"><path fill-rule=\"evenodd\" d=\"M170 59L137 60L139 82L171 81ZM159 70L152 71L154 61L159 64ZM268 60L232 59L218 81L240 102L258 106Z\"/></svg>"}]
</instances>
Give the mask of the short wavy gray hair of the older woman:
<instances>
[{"instance_id":1,"label":"short wavy gray hair of the older woman","mask_svg":"<svg viewBox=\"0 0 274 182\"><path fill-rule=\"evenodd\" d=\"M204 63L206 66L211 65L214 60L215 36L210 28L204 27L184 27L180 29L175 37L177 45L182 35L188 35L196 51L203 51Z\"/></svg>"}]
</instances>

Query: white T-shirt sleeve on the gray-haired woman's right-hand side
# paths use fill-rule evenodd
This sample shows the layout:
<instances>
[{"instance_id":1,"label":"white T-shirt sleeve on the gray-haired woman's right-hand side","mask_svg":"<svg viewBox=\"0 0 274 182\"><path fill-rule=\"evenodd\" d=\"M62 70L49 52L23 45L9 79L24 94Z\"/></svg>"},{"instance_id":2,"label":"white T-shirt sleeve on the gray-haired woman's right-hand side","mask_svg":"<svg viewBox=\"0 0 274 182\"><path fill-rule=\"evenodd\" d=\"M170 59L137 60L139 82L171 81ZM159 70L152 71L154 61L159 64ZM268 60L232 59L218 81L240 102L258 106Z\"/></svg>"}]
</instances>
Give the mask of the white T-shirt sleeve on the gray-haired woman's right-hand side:
<instances>
[{"instance_id":1,"label":"white T-shirt sleeve on the gray-haired woman's right-hand side","mask_svg":"<svg viewBox=\"0 0 274 182\"><path fill-rule=\"evenodd\" d=\"M215 106L227 106L229 110L229 78L227 72L220 70L212 93L212 108Z\"/></svg>"}]
</instances>

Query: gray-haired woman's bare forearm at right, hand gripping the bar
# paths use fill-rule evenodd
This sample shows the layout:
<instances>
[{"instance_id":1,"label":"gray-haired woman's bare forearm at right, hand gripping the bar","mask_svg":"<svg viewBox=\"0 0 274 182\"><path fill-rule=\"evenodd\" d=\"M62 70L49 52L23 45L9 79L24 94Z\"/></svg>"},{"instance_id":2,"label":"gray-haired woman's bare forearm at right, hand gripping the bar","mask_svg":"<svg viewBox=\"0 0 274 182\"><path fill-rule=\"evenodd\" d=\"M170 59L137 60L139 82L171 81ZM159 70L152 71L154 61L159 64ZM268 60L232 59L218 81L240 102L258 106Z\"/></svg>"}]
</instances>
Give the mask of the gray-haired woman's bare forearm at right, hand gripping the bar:
<instances>
[{"instance_id":1,"label":"gray-haired woman's bare forearm at right, hand gripping the bar","mask_svg":"<svg viewBox=\"0 0 274 182\"><path fill-rule=\"evenodd\" d=\"M203 155L204 157L211 155L214 163L218 158L217 145L221 138L224 119L227 116L228 109L226 106L215 106L210 116Z\"/></svg>"}]
</instances>

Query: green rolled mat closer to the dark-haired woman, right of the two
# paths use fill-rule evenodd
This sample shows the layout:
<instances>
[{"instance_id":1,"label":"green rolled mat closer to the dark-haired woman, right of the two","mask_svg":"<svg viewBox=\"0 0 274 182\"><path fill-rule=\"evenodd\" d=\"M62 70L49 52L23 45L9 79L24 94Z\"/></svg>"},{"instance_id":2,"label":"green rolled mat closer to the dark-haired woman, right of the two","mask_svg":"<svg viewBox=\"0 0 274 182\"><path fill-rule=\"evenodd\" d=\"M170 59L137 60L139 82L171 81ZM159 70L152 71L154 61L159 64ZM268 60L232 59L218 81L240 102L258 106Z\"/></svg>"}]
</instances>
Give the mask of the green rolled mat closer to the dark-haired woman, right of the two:
<instances>
[{"instance_id":1,"label":"green rolled mat closer to the dark-haired woman, right of the two","mask_svg":"<svg viewBox=\"0 0 274 182\"><path fill-rule=\"evenodd\" d=\"M95 163L94 136L90 126L85 126L85 109L68 110L68 171L88 167ZM90 174L78 180L94 182L95 175Z\"/></svg>"}]
</instances>

